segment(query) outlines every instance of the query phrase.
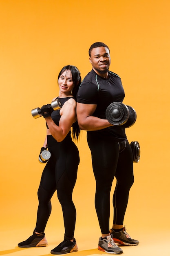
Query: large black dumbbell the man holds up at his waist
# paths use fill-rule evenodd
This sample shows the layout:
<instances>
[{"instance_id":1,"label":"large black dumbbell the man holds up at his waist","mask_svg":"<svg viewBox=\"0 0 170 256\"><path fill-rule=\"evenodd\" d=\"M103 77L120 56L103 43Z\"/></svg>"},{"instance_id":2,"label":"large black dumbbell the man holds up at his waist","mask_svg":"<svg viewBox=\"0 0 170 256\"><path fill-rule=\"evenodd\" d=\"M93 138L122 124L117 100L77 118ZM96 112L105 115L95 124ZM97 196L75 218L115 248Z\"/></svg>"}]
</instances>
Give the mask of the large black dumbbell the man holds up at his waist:
<instances>
[{"instance_id":1,"label":"large black dumbbell the man holds up at his waist","mask_svg":"<svg viewBox=\"0 0 170 256\"><path fill-rule=\"evenodd\" d=\"M137 119L134 108L121 102L113 102L106 109L106 118L110 124L129 128Z\"/></svg>"}]
</instances>

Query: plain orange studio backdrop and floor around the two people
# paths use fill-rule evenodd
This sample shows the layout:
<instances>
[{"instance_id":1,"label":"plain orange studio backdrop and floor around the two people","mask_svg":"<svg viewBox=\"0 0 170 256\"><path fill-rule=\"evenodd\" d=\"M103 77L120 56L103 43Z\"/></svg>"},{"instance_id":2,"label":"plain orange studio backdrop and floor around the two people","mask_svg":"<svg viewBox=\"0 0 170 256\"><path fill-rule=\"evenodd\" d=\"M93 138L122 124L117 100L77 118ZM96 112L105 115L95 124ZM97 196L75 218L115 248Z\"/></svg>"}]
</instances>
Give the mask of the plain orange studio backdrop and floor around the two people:
<instances>
[{"instance_id":1,"label":"plain orange studio backdrop and floor around the two people","mask_svg":"<svg viewBox=\"0 0 170 256\"><path fill-rule=\"evenodd\" d=\"M169 242L169 11L168 0L0 0L0 255L48 255L63 239L62 210L55 194L46 227L49 247L29 249L30 254L15 248L35 227L44 168L38 155L45 122L33 119L31 109L57 96L57 75L64 65L76 65L84 78L91 70L88 49L97 41L109 46L110 70L121 76L124 103L137 112L136 123L126 133L129 141L139 141L141 159L134 164L135 183L124 224L140 245L124 251L136 256L144 247L145 255L150 255L158 238L160 243ZM77 255L98 255L97 250L90 253L97 248L100 230L85 131L77 146L81 160L73 192ZM114 185L115 181L113 190ZM112 207L110 211L111 226ZM169 252L166 245L161 254ZM160 255L159 249L154 255Z\"/></svg>"}]
</instances>

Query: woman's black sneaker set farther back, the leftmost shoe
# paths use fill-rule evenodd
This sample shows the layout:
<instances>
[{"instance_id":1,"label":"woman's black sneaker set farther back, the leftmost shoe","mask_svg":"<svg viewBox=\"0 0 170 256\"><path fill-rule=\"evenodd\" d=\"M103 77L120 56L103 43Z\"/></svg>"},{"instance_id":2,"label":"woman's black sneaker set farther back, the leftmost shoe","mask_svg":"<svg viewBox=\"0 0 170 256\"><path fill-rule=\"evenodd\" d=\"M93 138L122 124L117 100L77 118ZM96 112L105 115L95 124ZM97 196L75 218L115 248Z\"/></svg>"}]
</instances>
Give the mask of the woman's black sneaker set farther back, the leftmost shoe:
<instances>
[{"instance_id":1,"label":"woman's black sneaker set farther back, the leftmost shoe","mask_svg":"<svg viewBox=\"0 0 170 256\"><path fill-rule=\"evenodd\" d=\"M18 247L44 247L46 245L48 245L48 242L45 238L45 233L36 235L35 231L33 231L33 235L25 241L19 243Z\"/></svg>"}]
</instances>

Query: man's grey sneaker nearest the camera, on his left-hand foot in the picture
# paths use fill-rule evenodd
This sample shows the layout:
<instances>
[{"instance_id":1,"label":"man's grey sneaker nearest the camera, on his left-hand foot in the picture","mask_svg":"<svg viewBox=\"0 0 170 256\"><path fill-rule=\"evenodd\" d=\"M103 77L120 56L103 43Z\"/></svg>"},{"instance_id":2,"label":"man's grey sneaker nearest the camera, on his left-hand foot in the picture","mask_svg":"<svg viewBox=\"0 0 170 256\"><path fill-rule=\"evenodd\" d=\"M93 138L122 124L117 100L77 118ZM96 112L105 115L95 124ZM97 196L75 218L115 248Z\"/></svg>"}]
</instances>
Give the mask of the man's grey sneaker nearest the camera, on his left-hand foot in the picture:
<instances>
[{"instance_id":1,"label":"man's grey sneaker nearest the camera, on his left-hand foot in the picture","mask_svg":"<svg viewBox=\"0 0 170 256\"><path fill-rule=\"evenodd\" d=\"M105 238L100 237L98 249L109 254L122 254L123 250L114 243L112 237L112 235Z\"/></svg>"}]
</instances>

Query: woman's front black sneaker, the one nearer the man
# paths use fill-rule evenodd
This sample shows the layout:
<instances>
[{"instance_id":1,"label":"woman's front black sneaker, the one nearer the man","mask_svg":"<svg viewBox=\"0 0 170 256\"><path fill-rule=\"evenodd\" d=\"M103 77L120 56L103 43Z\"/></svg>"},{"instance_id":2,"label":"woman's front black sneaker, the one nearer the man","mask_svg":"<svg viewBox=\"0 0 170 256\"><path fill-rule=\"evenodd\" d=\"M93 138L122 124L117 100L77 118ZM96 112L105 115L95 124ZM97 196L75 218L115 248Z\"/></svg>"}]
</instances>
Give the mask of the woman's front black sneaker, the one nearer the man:
<instances>
[{"instance_id":1,"label":"woman's front black sneaker, the one nearer the man","mask_svg":"<svg viewBox=\"0 0 170 256\"><path fill-rule=\"evenodd\" d=\"M77 252L78 246L75 238L71 242L70 238L64 236L64 241L62 241L57 247L51 250L51 254L66 254L69 252Z\"/></svg>"}]
</instances>

